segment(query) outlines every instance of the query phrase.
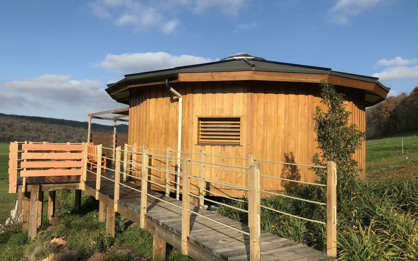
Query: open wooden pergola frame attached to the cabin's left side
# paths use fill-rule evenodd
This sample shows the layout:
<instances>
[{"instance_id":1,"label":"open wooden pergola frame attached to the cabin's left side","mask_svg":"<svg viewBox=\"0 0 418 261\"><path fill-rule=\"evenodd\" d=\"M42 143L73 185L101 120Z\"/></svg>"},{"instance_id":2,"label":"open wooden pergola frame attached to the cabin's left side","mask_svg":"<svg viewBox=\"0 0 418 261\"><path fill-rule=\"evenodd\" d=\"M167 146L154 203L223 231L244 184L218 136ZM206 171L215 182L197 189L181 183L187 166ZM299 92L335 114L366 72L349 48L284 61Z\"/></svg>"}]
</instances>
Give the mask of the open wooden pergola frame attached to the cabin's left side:
<instances>
[{"instance_id":1,"label":"open wooden pergola frame attached to the cabin's left side","mask_svg":"<svg viewBox=\"0 0 418 261\"><path fill-rule=\"evenodd\" d=\"M105 117L106 114L116 114L113 117ZM87 143L91 140L92 135L92 119L103 119L108 121L113 121L113 149L116 148L116 122L129 122L129 119L122 119L129 117L129 107L112 109L108 111L99 111L89 114L89 129L87 133ZM115 158L115 153L112 153L112 158Z\"/></svg>"}]
</instances>

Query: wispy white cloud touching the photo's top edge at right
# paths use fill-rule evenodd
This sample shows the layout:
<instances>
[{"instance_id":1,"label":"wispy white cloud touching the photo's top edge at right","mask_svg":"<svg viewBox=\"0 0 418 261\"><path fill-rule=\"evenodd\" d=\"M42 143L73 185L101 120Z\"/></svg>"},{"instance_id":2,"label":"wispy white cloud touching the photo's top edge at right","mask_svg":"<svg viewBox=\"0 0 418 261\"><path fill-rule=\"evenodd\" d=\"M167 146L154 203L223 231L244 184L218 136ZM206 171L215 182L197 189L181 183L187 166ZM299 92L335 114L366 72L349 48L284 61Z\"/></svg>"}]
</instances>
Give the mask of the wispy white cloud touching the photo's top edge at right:
<instances>
[{"instance_id":1,"label":"wispy white cloud touching the photo's top edge at right","mask_svg":"<svg viewBox=\"0 0 418 261\"><path fill-rule=\"evenodd\" d=\"M347 24L349 17L376 6L381 0L338 0L331 8L331 20L337 24Z\"/></svg>"}]
</instances>

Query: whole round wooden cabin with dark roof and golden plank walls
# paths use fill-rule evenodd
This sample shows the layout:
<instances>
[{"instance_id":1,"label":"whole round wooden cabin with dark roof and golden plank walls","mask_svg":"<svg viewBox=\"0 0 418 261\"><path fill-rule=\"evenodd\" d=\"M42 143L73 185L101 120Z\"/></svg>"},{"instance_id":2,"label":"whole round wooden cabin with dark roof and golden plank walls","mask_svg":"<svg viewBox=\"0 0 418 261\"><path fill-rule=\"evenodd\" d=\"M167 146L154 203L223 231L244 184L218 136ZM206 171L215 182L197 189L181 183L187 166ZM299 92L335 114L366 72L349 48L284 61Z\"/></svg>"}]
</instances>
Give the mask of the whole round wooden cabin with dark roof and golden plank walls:
<instances>
[{"instance_id":1,"label":"whole round wooden cabin with dark roof and golden plank walls","mask_svg":"<svg viewBox=\"0 0 418 261\"><path fill-rule=\"evenodd\" d=\"M169 91L172 88L182 96L180 151L194 152L192 157L198 159L204 150L206 160L230 165L247 166L249 154L257 159L311 164L312 156L319 152L312 118L315 107L321 105L322 79L333 82L345 95L347 110L352 112L350 122L362 131L365 108L385 100L389 92L374 77L267 61L248 53L212 63L128 74L109 84L106 91L129 105L129 144L178 150L181 103L178 95ZM354 158L364 176L365 144ZM261 170L266 175L315 180L307 167L262 162ZM247 184L245 173L209 169L205 177ZM270 191L286 188L283 181L271 179L262 179L261 186ZM232 189L221 190L235 195Z\"/></svg>"}]
</instances>

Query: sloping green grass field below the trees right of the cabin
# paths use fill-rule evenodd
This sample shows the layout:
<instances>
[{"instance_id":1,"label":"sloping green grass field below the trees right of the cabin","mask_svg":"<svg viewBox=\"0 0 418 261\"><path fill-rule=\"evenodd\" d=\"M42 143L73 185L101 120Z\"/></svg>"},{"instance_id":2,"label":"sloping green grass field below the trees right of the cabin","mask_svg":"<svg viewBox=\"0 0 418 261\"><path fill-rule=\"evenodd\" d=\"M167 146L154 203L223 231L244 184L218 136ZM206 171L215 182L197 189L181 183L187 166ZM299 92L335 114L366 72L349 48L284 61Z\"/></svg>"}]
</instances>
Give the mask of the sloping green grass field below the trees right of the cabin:
<instances>
[{"instance_id":1,"label":"sloping green grass field below the trees right of the cabin","mask_svg":"<svg viewBox=\"0 0 418 261\"><path fill-rule=\"evenodd\" d=\"M402 155L402 138L403 151ZM366 174L418 162L418 132L396 134L366 141Z\"/></svg>"}]
</instances>

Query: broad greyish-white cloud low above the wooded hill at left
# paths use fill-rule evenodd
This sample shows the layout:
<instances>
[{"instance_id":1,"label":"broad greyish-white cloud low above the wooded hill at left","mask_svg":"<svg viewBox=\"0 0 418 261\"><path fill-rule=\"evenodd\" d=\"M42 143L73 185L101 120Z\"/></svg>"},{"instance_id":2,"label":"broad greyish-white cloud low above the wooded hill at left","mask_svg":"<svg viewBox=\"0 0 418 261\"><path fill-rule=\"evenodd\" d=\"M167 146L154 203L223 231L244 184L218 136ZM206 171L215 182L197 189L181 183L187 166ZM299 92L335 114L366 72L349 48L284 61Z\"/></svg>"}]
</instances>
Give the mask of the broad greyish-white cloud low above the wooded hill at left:
<instances>
[{"instance_id":1,"label":"broad greyish-white cloud low above the wooded hill at left","mask_svg":"<svg viewBox=\"0 0 418 261\"><path fill-rule=\"evenodd\" d=\"M68 75L45 74L26 80L10 81L0 89L2 99L28 101L29 106L38 104L48 107L97 106L115 104L102 89L99 81L73 80ZM113 105L114 106L114 105Z\"/></svg>"}]
</instances>

